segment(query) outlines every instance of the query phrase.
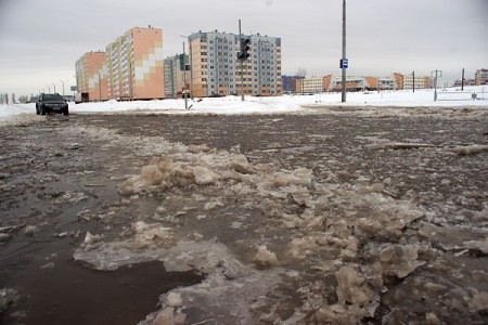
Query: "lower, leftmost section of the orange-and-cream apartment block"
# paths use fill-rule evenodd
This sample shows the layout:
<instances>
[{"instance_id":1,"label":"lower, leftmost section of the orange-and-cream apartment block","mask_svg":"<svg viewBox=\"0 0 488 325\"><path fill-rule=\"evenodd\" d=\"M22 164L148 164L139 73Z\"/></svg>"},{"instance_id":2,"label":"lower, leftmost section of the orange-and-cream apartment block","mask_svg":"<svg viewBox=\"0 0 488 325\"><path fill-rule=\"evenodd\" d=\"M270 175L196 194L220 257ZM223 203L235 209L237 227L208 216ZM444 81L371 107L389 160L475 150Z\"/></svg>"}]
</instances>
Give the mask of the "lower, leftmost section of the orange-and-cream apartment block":
<instances>
[{"instance_id":1,"label":"lower, leftmost section of the orange-and-cream apartment block","mask_svg":"<svg viewBox=\"0 0 488 325\"><path fill-rule=\"evenodd\" d=\"M84 101L106 101L106 53L87 52L76 61L76 84Z\"/></svg>"}]
</instances>

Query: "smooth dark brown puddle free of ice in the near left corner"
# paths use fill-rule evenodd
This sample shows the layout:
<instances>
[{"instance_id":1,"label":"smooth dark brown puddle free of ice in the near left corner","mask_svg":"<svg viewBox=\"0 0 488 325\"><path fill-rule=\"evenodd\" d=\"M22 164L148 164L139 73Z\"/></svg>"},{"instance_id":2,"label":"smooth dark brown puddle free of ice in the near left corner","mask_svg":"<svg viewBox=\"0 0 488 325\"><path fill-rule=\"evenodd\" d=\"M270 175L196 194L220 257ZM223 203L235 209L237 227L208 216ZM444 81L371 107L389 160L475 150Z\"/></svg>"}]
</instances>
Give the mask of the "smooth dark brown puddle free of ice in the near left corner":
<instances>
[{"instance_id":1,"label":"smooth dark brown puddle free of ice in the near left corner","mask_svg":"<svg viewBox=\"0 0 488 325\"><path fill-rule=\"evenodd\" d=\"M97 271L66 261L31 272L2 324L137 324L156 310L159 295L200 283L193 272L166 272L162 262ZM23 316L24 315L24 316Z\"/></svg>"}]
</instances>

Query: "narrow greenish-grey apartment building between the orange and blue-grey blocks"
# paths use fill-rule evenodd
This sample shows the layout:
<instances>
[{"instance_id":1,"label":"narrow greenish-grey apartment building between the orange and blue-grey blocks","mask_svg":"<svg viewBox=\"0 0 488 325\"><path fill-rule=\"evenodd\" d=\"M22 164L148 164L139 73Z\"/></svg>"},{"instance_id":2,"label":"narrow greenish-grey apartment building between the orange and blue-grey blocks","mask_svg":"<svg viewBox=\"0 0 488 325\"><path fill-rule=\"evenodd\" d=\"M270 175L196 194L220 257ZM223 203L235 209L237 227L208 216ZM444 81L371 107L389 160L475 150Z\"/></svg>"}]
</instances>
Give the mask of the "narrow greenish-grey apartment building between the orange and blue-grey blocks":
<instances>
[{"instance_id":1,"label":"narrow greenish-grey apartment building between the orange and blue-grey blocks","mask_svg":"<svg viewBox=\"0 0 488 325\"><path fill-rule=\"evenodd\" d=\"M189 65L188 54L177 54L165 58L165 98L181 98L183 89L190 89L190 70L185 69ZM184 87L184 81L187 87Z\"/></svg>"}]
</instances>

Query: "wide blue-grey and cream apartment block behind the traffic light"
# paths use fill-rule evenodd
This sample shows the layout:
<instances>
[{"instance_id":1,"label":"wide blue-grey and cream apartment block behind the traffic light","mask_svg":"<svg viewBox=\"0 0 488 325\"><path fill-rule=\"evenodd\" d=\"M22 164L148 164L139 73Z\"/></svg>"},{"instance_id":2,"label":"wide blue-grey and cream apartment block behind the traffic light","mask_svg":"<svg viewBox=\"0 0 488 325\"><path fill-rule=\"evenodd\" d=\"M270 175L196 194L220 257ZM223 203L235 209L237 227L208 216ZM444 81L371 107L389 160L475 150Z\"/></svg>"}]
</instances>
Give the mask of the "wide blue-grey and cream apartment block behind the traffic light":
<instances>
[{"instance_id":1,"label":"wide blue-grey and cream apartment block behind the traffic light","mask_svg":"<svg viewBox=\"0 0 488 325\"><path fill-rule=\"evenodd\" d=\"M194 96L280 95L281 38L257 35L249 39L248 60L237 61L239 35L195 32L189 37Z\"/></svg>"}]
</instances>

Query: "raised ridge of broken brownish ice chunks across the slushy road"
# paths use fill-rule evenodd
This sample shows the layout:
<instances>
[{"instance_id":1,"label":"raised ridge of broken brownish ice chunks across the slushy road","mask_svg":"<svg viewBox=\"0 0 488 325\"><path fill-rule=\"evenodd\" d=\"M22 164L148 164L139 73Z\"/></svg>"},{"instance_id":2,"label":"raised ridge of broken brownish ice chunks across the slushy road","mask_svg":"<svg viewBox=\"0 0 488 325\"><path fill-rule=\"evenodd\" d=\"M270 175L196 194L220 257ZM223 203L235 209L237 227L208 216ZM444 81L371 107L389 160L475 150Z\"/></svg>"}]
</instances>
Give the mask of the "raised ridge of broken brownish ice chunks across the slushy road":
<instances>
[{"instance_id":1,"label":"raised ridge of broken brownish ice chunks across the slushy road","mask_svg":"<svg viewBox=\"0 0 488 325\"><path fill-rule=\"evenodd\" d=\"M337 301L331 304L323 297L319 299L321 302L314 306L317 321L372 317L380 304L380 292L385 290L383 276L403 278L425 263L418 260L425 247L401 240L404 227L422 212L412 203L385 194L383 184L324 184L306 168L277 170L269 165L249 164L241 154L169 145L140 174L120 183L119 193L216 185L219 195L239 197L244 206L258 202L269 220L300 232L278 255L265 244L259 245L254 258L258 268L290 263L280 262L280 257L286 260L290 256L322 270L324 275L335 274ZM310 311L304 308L295 317L306 312Z\"/></svg>"}]
</instances>

